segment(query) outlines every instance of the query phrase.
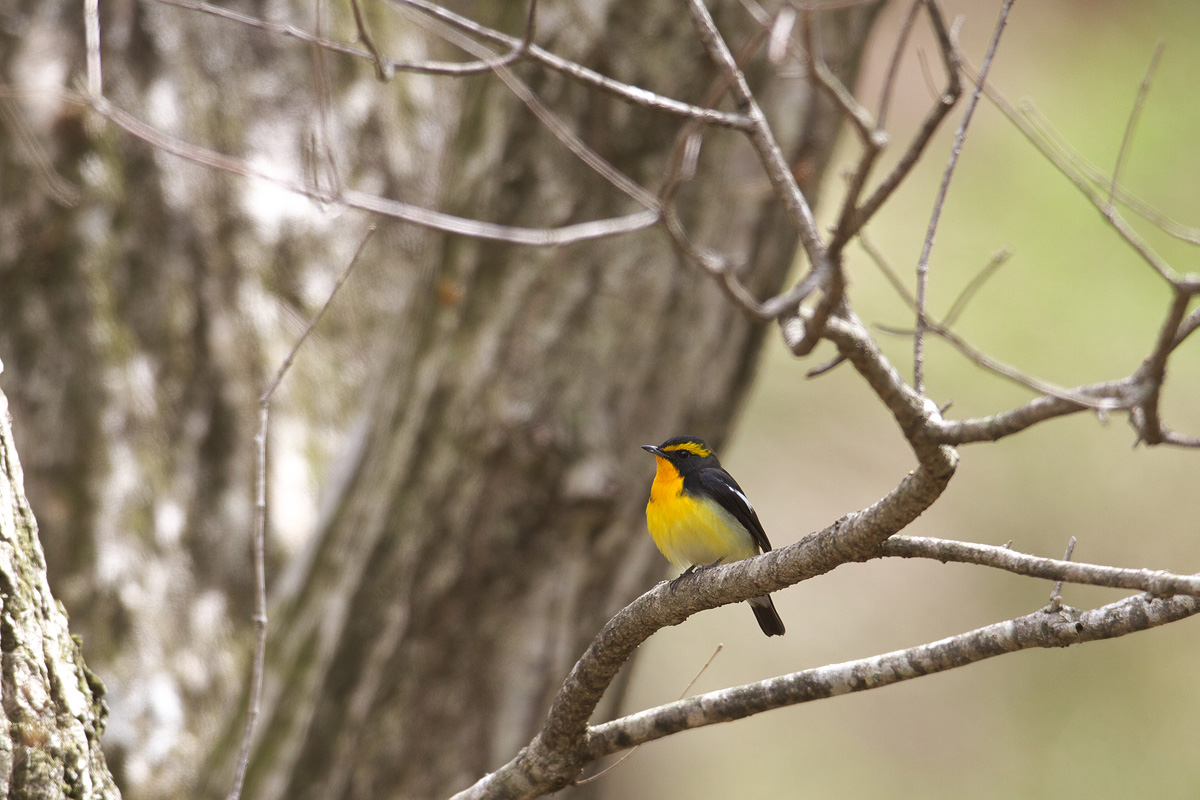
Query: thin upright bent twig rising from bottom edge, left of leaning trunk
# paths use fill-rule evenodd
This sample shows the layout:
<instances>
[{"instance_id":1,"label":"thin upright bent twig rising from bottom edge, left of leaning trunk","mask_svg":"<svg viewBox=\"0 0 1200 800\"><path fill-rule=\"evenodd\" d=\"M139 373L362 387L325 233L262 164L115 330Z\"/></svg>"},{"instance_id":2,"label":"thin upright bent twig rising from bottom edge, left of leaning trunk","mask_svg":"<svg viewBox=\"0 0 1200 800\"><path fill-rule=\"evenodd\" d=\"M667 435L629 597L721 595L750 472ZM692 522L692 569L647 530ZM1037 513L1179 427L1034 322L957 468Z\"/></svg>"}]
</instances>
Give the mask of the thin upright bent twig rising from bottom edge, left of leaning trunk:
<instances>
[{"instance_id":1,"label":"thin upright bent twig rising from bottom edge, left of leaning trunk","mask_svg":"<svg viewBox=\"0 0 1200 800\"><path fill-rule=\"evenodd\" d=\"M271 396L275 395L280 381L283 380L283 377L292 367L292 362L295 361L296 354L300 353L300 348L307 341L308 335L312 333L313 329L317 327L317 323L329 311L334 297L337 296L337 291L346 283L346 278L349 277L350 271L359 263L359 258L362 255L362 251L366 248L374 231L374 225L367 228L366 235L362 236L358 249L354 251L354 258L346 265L342 273L337 276L337 282L330 290L329 296L325 297L325 302L316 315L313 315L307 327L305 327L300 338L292 345L292 350L283 359L278 369L275 371L275 375L268 383L266 390L258 398L258 433L254 434L254 655L251 664L246 724L242 728L241 745L238 750L238 766L234 771L233 787L229 789L229 794L226 795L227 800L239 800L241 798L241 789L246 780L246 769L250 766L250 753L254 744L254 728L258 724L258 715L262 708L263 679L266 669L266 432L270 422Z\"/></svg>"}]
</instances>

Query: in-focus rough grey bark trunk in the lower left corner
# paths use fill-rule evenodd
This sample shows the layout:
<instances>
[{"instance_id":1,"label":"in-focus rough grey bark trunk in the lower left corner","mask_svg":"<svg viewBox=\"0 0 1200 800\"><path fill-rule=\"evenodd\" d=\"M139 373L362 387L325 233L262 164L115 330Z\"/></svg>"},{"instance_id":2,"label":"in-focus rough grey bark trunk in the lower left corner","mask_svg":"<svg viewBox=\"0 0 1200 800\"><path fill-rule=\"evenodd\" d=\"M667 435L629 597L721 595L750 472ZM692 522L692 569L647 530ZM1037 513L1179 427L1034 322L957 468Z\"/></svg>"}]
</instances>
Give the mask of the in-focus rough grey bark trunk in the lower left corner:
<instances>
[{"instance_id":1,"label":"in-focus rough grey bark trunk in the lower left corner","mask_svg":"<svg viewBox=\"0 0 1200 800\"><path fill-rule=\"evenodd\" d=\"M50 594L2 391L0 654L0 796L120 798L100 748L104 686L84 664L79 639Z\"/></svg>"}]
</instances>

